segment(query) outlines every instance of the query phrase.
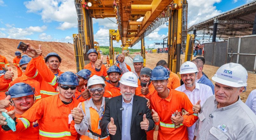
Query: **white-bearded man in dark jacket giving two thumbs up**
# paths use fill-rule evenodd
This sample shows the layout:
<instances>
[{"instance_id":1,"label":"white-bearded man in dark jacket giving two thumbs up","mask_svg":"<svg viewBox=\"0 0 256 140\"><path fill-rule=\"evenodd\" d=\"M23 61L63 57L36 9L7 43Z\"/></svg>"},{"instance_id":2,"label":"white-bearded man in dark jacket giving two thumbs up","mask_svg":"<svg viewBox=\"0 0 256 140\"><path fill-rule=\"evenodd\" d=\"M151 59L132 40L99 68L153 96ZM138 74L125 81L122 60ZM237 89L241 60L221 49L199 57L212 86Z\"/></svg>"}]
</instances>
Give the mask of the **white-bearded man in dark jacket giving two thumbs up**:
<instances>
[{"instance_id":1,"label":"white-bearded man in dark jacket giving two thumbs up","mask_svg":"<svg viewBox=\"0 0 256 140\"><path fill-rule=\"evenodd\" d=\"M146 131L154 128L154 121L147 100L134 95L138 78L129 71L119 82L122 95L109 100L100 128L113 140L146 140Z\"/></svg>"}]
</instances>

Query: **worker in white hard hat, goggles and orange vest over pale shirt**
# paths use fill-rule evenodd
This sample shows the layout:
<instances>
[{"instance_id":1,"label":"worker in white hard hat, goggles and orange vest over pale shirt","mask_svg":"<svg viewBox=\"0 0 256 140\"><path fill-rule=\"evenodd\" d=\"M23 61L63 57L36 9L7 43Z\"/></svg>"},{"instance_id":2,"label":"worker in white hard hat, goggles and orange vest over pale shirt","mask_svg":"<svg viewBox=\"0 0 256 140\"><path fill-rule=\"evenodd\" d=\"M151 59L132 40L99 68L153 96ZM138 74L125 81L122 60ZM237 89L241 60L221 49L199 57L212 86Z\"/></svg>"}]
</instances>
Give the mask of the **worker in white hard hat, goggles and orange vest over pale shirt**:
<instances>
[{"instance_id":1,"label":"worker in white hard hat, goggles and orange vest over pale shirt","mask_svg":"<svg viewBox=\"0 0 256 140\"><path fill-rule=\"evenodd\" d=\"M105 109L104 87L106 86L102 77L94 75L87 83L87 89L90 92L91 99L82 102L79 108L72 110L72 115L84 116L80 123L75 122L71 125L76 131L81 134L81 140L109 140L110 137L104 131L101 131L99 122L102 119ZM79 113L79 110L81 112ZM75 114L77 113L77 114Z\"/></svg>"}]
</instances>

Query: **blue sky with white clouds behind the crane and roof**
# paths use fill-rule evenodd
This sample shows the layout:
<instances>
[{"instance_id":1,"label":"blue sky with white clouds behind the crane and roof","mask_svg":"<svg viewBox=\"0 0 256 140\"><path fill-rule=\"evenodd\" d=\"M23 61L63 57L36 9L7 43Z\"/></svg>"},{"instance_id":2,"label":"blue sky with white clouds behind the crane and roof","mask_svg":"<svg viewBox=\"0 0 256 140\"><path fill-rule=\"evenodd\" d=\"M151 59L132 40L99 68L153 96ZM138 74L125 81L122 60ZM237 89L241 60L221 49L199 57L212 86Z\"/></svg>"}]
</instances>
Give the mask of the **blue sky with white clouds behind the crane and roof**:
<instances>
[{"instance_id":1,"label":"blue sky with white clouds behind the crane and roof","mask_svg":"<svg viewBox=\"0 0 256 140\"><path fill-rule=\"evenodd\" d=\"M188 27L250 1L188 0ZM0 38L73 42L72 34L78 32L74 0L0 0L0 13ZM94 39L100 46L109 46L108 30L117 29L112 21L93 19ZM162 42L167 32L166 24L158 27L145 38L145 46ZM140 42L133 48L140 48Z\"/></svg>"}]
</instances>

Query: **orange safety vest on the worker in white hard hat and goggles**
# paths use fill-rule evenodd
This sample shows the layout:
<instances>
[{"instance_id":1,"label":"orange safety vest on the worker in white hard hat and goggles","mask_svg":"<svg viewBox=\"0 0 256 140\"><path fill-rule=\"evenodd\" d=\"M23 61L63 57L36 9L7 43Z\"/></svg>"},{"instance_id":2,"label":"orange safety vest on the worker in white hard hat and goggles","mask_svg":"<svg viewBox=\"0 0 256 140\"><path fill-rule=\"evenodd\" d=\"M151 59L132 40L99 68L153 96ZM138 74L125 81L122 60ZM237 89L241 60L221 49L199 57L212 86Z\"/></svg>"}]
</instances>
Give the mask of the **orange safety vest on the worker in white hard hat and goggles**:
<instances>
[{"instance_id":1,"label":"orange safety vest on the worker in white hard hat and goggles","mask_svg":"<svg viewBox=\"0 0 256 140\"><path fill-rule=\"evenodd\" d=\"M89 124L88 129L89 130L85 133L85 135L82 135L80 137L80 140L110 140L109 135L107 135L105 137L99 137L101 135L101 129L99 128L99 122L102 117L99 117L98 112L94 108L85 107L85 105L88 102L89 102L89 100L86 100L82 103L82 109L83 109L85 117L88 121L88 124Z\"/></svg>"}]
</instances>

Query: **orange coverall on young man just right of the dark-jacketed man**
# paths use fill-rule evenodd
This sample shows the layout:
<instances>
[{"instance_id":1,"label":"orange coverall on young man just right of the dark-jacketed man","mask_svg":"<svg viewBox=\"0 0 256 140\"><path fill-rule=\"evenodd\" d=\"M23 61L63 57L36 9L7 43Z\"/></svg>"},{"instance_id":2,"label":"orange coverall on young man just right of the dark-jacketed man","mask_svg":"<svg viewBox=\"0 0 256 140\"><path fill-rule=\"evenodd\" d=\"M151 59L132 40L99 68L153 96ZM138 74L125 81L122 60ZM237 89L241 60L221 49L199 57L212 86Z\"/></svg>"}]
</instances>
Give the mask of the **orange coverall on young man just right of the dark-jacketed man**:
<instances>
[{"instance_id":1,"label":"orange coverall on young man just right of the dark-jacketed man","mask_svg":"<svg viewBox=\"0 0 256 140\"><path fill-rule=\"evenodd\" d=\"M158 94L154 94L150 98L150 103L152 109L158 113L160 120L156 123L159 125L158 139L188 139L187 127L192 126L197 121L198 114L193 113L193 105L185 93L170 89L167 98L162 99ZM175 114L176 110L181 114L182 109L185 109L189 114L183 115L182 124L175 129L171 116Z\"/></svg>"}]
</instances>

